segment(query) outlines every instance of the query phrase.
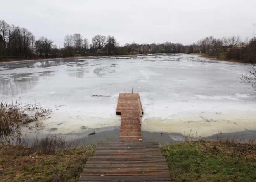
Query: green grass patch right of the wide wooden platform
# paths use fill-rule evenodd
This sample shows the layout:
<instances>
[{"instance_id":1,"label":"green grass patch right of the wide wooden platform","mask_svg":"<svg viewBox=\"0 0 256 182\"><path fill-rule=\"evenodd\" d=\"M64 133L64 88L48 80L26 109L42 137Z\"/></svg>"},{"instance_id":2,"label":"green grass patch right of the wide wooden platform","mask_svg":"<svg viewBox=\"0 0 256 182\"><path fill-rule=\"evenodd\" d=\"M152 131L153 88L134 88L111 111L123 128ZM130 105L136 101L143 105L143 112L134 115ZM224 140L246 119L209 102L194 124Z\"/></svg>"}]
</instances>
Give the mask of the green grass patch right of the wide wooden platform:
<instances>
[{"instance_id":1,"label":"green grass patch right of the wide wooden platform","mask_svg":"<svg viewBox=\"0 0 256 182\"><path fill-rule=\"evenodd\" d=\"M195 141L161 146L176 182L255 182L256 146Z\"/></svg>"}]
</instances>

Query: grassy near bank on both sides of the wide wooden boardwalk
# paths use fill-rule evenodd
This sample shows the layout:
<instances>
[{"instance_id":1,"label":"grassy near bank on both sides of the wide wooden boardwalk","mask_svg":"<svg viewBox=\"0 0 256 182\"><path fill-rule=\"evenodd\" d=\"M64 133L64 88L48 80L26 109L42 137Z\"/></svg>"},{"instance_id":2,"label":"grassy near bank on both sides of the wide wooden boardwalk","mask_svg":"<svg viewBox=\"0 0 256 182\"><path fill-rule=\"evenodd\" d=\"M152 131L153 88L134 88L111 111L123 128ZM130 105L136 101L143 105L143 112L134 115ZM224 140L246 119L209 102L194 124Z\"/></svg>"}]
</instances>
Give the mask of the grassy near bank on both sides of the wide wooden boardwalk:
<instances>
[{"instance_id":1,"label":"grassy near bank on both sides of the wide wooden boardwalk","mask_svg":"<svg viewBox=\"0 0 256 182\"><path fill-rule=\"evenodd\" d=\"M0 180L78 181L95 146L62 150L51 155L21 146L0 146ZM176 182L256 181L256 145L193 141L161 146ZM31 158L34 156L35 158Z\"/></svg>"}]
</instances>

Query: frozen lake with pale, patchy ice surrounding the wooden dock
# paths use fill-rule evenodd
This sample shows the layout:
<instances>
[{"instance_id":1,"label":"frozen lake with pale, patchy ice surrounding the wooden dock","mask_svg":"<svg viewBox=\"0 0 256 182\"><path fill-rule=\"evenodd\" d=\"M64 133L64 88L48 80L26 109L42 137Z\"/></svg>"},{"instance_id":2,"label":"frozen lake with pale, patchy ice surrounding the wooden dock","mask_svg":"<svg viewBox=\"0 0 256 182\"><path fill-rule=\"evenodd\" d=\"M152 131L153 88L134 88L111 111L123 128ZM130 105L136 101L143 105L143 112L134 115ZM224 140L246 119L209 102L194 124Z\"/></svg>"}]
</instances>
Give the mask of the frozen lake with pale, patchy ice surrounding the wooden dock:
<instances>
[{"instance_id":1,"label":"frozen lake with pale, patchy ice surrounding the wooden dock","mask_svg":"<svg viewBox=\"0 0 256 182\"><path fill-rule=\"evenodd\" d=\"M39 136L54 132L83 138L96 131L116 140L121 123L115 113L118 95L133 88L142 101L143 132L175 139L175 133L192 129L207 137L256 130L251 85L239 79L250 68L188 54L7 63L0 65L0 100L37 102L52 109L43 127L36 128ZM22 129L35 136L33 130ZM117 134L109 132L114 130Z\"/></svg>"}]
</instances>

